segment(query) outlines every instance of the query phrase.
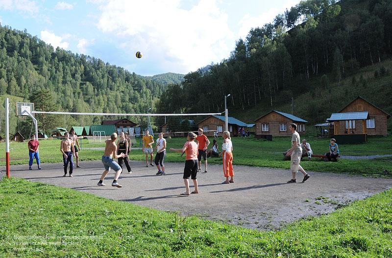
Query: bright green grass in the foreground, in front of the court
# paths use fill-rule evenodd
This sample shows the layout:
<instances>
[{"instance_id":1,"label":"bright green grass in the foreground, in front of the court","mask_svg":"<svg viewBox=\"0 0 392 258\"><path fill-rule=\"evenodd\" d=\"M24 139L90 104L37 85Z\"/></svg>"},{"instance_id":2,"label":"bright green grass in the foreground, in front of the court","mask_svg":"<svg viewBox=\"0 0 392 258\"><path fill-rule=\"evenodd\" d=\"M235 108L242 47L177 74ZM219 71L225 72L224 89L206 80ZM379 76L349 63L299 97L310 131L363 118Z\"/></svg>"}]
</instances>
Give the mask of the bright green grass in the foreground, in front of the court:
<instances>
[{"instance_id":1,"label":"bright green grass in the foreground, in front of the court","mask_svg":"<svg viewBox=\"0 0 392 258\"><path fill-rule=\"evenodd\" d=\"M0 212L1 257L392 257L392 189L270 232L15 178Z\"/></svg>"}]
</instances>

